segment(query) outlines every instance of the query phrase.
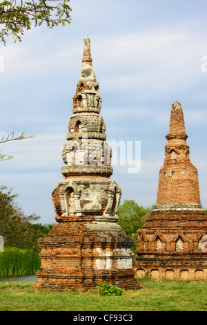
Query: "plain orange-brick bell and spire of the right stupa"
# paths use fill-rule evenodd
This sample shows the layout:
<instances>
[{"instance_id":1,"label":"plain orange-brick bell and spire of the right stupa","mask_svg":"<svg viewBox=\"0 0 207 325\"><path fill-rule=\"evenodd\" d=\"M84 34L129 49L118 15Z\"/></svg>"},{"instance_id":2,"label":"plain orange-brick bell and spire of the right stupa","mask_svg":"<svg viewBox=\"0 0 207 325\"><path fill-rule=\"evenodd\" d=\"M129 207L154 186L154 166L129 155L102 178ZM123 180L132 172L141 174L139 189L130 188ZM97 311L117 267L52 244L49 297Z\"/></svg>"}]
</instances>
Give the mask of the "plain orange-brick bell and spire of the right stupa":
<instances>
[{"instance_id":1,"label":"plain orange-brick bell and spire of the right stupa","mask_svg":"<svg viewBox=\"0 0 207 325\"><path fill-rule=\"evenodd\" d=\"M190 163L186 145L184 113L179 102L172 104L170 133L166 136L164 166L159 172L157 206L200 205L197 169Z\"/></svg>"}]
</instances>

